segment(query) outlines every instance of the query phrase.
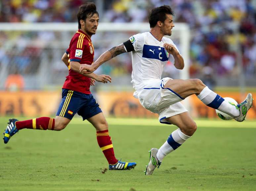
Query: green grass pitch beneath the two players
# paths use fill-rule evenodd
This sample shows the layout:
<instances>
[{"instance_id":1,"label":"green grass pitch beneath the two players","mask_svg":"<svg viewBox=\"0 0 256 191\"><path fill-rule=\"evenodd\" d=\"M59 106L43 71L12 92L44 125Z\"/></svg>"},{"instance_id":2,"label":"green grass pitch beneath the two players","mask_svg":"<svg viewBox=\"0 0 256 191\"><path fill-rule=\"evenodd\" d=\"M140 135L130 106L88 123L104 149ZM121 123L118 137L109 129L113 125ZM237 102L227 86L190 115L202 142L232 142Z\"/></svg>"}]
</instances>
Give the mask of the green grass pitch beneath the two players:
<instances>
[{"instance_id":1,"label":"green grass pitch beneath the two players","mask_svg":"<svg viewBox=\"0 0 256 191\"><path fill-rule=\"evenodd\" d=\"M0 118L1 131L7 120ZM135 169L102 173L108 164L94 127L74 118L63 131L24 129L0 143L0 190L256 190L255 121L196 120L193 137L152 176L143 173L148 150L176 127L157 119L108 122L116 157L137 162Z\"/></svg>"}]
</instances>

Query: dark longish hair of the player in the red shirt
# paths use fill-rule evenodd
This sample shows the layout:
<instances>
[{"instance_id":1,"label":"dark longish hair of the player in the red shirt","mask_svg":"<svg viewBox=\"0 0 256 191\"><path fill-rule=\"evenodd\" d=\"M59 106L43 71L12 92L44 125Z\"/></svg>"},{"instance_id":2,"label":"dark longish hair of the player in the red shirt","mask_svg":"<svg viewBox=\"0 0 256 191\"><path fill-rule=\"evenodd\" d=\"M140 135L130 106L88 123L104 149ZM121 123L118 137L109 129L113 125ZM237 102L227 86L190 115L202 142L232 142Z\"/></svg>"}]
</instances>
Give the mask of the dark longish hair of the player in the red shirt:
<instances>
[{"instance_id":1,"label":"dark longish hair of the player in the red shirt","mask_svg":"<svg viewBox=\"0 0 256 191\"><path fill-rule=\"evenodd\" d=\"M77 21L78 21L78 29L81 29L80 20L85 20L87 17L91 17L94 14L99 13L96 11L96 5L92 2L87 2L79 7L79 11L77 13Z\"/></svg>"}]
</instances>

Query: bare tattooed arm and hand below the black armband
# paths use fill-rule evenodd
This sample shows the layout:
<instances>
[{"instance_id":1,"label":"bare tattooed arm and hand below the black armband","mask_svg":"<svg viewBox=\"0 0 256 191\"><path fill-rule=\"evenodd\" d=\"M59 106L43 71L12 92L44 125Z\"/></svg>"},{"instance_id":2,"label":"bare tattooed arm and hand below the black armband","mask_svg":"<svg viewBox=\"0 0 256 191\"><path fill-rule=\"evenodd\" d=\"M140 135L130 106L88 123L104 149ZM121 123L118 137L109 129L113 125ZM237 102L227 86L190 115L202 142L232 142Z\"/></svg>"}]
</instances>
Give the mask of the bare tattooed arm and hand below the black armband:
<instances>
[{"instance_id":1,"label":"bare tattooed arm and hand below the black armband","mask_svg":"<svg viewBox=\"0 0 256 191\"><path fill-rule=\"evenodd\" d=\"M114 46L104 52L92 65L81 64L80 65L80 73L81 74L89 74L95 71L99 66L103 63L111 60L119 54L127 52L124 47L124 43L119 44L118 46Z\"/></svg>"}]
</instances>

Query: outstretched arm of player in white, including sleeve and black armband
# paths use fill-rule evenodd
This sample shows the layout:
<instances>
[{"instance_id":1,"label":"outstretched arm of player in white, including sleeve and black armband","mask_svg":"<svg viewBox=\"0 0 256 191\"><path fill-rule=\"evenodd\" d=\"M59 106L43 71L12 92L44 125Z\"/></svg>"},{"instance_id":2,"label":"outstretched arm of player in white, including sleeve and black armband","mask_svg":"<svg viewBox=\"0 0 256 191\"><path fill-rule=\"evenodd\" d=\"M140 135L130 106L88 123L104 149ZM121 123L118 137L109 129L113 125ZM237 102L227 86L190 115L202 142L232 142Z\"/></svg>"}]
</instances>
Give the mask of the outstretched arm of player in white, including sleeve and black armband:
<instances>
[{"instance_id":1,"label":"outstretched arm of player in white, including sleeve and black armband","mask_svg":"<svg viewBox=\"0 0 256 191\"><path fill-rule=\"evenodd\" d=\"M91 73L103 63L124 52L140 51L143 48L144 41L145 38L142 34L134 35L128 41L108 49L92 65L81 64L80 73Z\"/></svg>"}]
</instances>

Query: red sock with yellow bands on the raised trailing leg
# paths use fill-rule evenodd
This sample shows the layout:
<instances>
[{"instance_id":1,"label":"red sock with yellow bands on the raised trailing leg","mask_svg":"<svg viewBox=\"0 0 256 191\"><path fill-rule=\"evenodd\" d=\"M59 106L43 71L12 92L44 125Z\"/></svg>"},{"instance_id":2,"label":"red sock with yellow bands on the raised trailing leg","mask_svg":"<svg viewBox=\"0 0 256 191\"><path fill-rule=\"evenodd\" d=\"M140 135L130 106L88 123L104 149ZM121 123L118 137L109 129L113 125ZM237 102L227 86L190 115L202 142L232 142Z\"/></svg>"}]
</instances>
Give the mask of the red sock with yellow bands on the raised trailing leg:
<instances>
[{"instance_id":1,"label":"red sock with yellow bands on the raised trailing leg","mask_svg":"<svg viewBox=\"0 0 256 191\"><path fill-rule=\"evenodd\" d=\"M17 121L15 125L17 129L41 129L41 130L54 130L55 119L50 117L40 117L31 120Z\"/></svg>"}]
</instances>

